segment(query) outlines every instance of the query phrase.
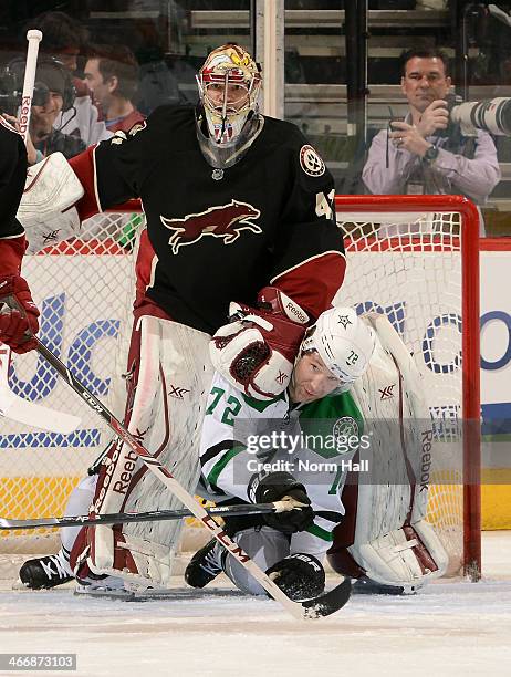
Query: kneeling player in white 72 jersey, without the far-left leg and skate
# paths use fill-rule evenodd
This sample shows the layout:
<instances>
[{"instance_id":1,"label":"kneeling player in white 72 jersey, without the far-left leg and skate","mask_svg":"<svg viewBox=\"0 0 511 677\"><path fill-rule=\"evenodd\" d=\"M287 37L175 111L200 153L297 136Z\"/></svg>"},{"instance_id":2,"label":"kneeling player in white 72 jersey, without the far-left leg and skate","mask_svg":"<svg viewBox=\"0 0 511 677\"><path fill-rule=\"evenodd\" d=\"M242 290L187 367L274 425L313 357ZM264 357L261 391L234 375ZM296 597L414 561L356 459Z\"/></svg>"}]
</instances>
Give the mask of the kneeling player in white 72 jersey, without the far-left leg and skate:
<instances>
[{"instance_id":1,"label":"kneeling player in white 72 jersey, without the far-left leg and skate","mask_svg":"<svg viewBox=\"0 0 511 677\"><path fill-rule=\"evenodd\" d=\"M325 311L306 333L291 384L280 397L248 397L216 374L200 445L201 489L217 503L291 500L295 509L226 518L226 530L294 600L322 593L323 560L344 514L341 492L351 459L364 444L364 421L350 388L375 346L373 330L352 308ZM221 571L242 591L265 592L210 541L190 561L185 579L204 587Z\"/></svg>"}]
</instances>

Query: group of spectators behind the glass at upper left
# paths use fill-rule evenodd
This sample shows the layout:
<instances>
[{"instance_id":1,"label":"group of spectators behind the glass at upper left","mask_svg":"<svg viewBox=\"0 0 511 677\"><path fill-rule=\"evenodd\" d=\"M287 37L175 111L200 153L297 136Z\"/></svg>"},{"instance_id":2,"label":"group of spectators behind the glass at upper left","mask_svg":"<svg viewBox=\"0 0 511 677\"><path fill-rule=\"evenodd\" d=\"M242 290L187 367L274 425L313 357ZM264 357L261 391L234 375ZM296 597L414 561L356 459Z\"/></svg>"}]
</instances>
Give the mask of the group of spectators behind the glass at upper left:
<instances>
[{"instance_id":1,"label":"group of spectators behind the glass at upper left","mask_svg":"<svg viewBox=\"0 0 511 677\"><path fill-rule=\"evenodd\" d=\"M29 164L55 152L71 158L145 119L135 103L139 67L128 46L92 44L87 30L64 12L44 12L30 21L30 28L41 30L43 38L30 119ZM20 82L24 59L15 58L7 67L18 71ZM15 122L12 113L6 117Z\"/></svg>"}]
</instances>

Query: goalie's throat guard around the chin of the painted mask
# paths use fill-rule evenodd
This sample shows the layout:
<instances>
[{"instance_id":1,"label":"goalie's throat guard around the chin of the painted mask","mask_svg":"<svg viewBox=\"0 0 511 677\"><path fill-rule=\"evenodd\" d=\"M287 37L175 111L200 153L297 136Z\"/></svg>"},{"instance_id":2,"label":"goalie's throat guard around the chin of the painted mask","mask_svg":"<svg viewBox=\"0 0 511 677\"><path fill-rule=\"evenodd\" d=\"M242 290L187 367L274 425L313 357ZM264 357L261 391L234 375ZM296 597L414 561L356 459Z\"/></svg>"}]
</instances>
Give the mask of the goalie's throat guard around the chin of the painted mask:
<instances>
[{"instance_id":1,"label":"goalie's throat guard around the chin of the painted mask","mask_svg":"<svg viewBox=\"0 0 511 677\"><path fill-rule=\"evenodd\" d=\"M228 169L240 162L250 146L261 134L264 117L252 112L244 123L241 132L230 142L218 144L208 132L204 108L197 108L197 139L208 165L215 169Z\"/></svg>"}]
</instances>

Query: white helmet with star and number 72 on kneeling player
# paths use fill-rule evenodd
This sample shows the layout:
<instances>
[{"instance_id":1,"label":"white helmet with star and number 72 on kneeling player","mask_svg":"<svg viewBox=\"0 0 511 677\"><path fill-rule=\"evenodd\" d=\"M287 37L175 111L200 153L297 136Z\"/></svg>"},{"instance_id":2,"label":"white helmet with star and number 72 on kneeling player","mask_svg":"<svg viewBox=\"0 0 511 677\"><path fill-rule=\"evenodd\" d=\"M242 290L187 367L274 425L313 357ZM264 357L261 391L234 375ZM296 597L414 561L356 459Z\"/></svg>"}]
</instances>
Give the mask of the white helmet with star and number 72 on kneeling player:
<instances>
[{"instance_id":1,"label":"white helmet with star and number 72 on kneeling player","mask_svg":"<svg viewBox=\"0 0 511 677\"><path fill-rule=\"evenodd\" d=\"M366 371L375 335L354 308L332 308L322 313L302 341L300 354L316 351L343 384L351 385Z\"/></svg>"}]
</instances>

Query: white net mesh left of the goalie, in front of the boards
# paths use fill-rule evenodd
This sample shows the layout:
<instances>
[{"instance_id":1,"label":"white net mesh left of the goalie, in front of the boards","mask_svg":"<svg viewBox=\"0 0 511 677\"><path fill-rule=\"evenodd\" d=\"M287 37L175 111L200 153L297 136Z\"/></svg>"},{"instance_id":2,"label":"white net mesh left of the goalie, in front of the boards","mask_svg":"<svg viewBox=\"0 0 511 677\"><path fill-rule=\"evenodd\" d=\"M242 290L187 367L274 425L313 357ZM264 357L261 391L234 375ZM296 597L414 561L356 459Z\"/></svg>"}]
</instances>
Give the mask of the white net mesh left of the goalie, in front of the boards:
<instances>
[{"instance_id":1,"label":"white net mesh left of the goalie, in front of the boards","mask_svg":"<svg viewBox=\"0 0 511 677\"><path fill-rule=\"evenodd\" d=\"M40 338L117 414L122 405L115 406L112 385L123 390L115 375L124 368L134 296L129 231L140 222L138 213L101 215L84 221L81 240L61 242L23 261L23 274L41 310ZM109 434L35 352L13 355L9 382L15 395L72 413L81 424L71 435L61 435L2 419L2 515L63 514L70 491ZM54 530L0 532L0 552L46 552L56 542Z\"/></svg>"}]
</instances>

